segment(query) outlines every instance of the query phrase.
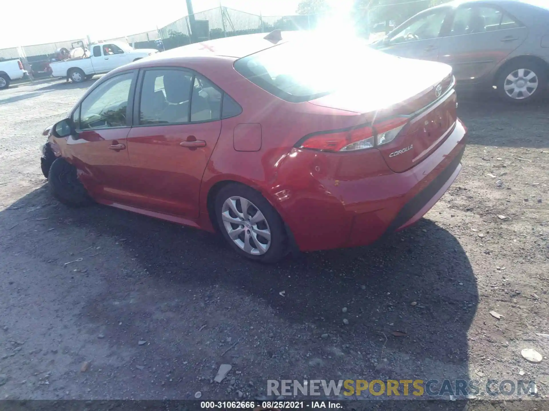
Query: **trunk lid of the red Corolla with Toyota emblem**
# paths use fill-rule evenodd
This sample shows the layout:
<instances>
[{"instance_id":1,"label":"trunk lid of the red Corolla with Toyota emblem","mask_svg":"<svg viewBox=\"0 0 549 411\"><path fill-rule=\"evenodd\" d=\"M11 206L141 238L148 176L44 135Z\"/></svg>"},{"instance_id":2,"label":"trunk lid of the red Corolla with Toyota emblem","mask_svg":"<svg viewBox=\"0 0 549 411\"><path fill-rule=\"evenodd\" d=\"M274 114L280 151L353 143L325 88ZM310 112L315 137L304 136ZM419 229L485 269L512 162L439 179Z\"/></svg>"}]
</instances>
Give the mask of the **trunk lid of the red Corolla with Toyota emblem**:
<instances>
[{"instance_id":1,"label":"trunk lid of the red Corolla with Toyota emblem","mask_svg":"<svg viewBox=\"0 0 549 411\"><path fill-rule=\"evenodd\" d=\"M402 116L407 123L390 142L377 146L389 168L400 173L429 156L456 122L456 95L450 66L383 55L380 65L365 68L352 87L310 101L360 114L374 129ZM346 82L349 84L349 82Z\"/></svg>"}]
</instances>

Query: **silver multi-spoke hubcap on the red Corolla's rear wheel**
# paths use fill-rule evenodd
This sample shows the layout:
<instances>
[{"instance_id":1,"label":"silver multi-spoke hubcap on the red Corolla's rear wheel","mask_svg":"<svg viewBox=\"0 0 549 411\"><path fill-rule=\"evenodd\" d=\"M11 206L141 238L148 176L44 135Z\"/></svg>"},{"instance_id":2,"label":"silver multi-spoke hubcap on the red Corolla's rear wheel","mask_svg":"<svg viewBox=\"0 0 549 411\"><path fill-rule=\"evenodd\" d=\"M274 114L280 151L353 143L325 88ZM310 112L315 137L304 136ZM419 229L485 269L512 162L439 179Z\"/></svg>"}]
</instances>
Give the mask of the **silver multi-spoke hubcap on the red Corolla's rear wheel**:
<instances>
[{"instance_id":1,"label":"silver multi-spoke hubcap on the red Corolla's rear wheel","mask_svg":"<svg viewBox=\"0 0 549 411\"><path fill-rule=\"evenodd\" d=\"M271 230L254 203L239 196L229 197L221 208L223 226L229 237L244 252L265 254L271 245Z\"/></svg>"}]
</instances>

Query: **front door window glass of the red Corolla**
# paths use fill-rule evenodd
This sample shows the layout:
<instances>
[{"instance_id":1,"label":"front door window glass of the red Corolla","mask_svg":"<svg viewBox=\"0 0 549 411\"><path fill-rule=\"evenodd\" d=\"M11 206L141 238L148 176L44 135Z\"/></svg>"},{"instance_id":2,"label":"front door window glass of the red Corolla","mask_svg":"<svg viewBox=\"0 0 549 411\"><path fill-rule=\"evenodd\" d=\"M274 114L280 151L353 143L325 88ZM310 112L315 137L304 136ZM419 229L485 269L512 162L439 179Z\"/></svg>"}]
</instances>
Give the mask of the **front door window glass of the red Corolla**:
<instances>
[{"instance_id":1,"label":"front door window glass of the red Corolla","mask_svg":"<svg viewBox=\"0 0 549 411\"><path fill-rule=\"evenodd\" d=\"M133 73L111 77L82 101L80 129L126 127Z\"/></svg>"}]
</instances>

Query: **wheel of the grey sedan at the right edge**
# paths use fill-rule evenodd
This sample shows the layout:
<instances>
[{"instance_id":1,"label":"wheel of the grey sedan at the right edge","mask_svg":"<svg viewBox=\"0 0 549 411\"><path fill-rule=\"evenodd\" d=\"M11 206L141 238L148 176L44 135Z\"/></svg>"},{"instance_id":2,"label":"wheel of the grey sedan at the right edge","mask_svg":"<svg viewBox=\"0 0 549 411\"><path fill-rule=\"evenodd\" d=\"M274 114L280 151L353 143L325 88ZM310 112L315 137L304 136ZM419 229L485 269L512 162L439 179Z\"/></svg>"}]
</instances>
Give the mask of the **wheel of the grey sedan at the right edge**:
<instances>
[{"instance_id":1,"label":"wheel of the grey sedan at the right edge","mask_svg":"<svg viewBox=\"0 0 549 411\"><path fill-rule=\"evenodd\" d=\"M547 81L547 68L536 61L521 59L502 68L496 87L502 100L527 104L544 94Z\"/></svg>"}]
</instances>

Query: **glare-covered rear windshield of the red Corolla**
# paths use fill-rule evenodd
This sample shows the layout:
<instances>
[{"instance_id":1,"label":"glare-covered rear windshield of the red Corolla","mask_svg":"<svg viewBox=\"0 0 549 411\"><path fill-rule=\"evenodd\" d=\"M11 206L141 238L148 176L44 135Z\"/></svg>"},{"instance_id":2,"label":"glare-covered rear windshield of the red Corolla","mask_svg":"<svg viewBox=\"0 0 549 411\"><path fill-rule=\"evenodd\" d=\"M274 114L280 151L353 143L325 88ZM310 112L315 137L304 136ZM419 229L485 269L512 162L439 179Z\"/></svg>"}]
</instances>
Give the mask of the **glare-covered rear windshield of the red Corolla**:
<instances>
[{"instance_id":1,"label":"glare-covered rear windshield of the red Corolla","mask_svg":"<svg viewBox=\"0 0 549 411\"><path fill-rule=\"evenodd\" d=\"M369 50L365 42L357 45ZM361 55L356 53L355 55ZM363 55L362 55L363 56ZM234 68L267 92L290 102L309 101L330 94L343 72L357 61L348 49L318 41L288 42L243 57Z\"/></svg>"}]
</instances>

